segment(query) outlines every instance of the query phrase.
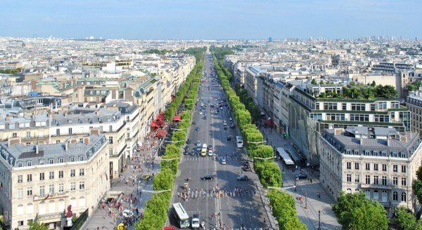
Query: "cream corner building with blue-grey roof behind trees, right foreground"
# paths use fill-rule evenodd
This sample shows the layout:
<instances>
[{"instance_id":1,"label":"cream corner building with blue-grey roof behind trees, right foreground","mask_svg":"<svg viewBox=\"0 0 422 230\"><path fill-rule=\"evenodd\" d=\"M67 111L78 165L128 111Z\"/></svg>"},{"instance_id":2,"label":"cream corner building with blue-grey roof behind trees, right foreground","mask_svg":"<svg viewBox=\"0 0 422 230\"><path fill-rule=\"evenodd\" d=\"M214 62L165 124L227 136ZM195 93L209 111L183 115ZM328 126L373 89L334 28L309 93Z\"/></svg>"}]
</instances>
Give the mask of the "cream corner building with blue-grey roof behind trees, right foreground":
<instances>
[{"instance_id":1,"label":"cream corner building with blue-grey roof behind trees, right foreground","mask_svg":"<svg viewBox=\"0 0 422 230\"><path fill-rule=\"evenodd\" d=\"M333 198L363 191L389 215L399 206L416 208L411 186L422 160L418 133L350 126L324 130L320 142L319 179Z\"/></svg>"}]
</instances>

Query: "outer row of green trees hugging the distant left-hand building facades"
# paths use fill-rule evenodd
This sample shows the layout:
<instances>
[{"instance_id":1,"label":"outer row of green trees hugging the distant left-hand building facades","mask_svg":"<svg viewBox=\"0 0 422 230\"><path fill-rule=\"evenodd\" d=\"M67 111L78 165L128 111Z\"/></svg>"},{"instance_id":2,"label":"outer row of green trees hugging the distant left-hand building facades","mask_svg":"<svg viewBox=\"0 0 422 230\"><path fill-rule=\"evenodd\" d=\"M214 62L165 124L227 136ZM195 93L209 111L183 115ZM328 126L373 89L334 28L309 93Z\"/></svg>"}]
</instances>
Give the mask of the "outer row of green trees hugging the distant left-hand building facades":
<instances>
[{"instance_id":1,"label":"outer row of green trees hugging the distant left-hand building facades","mask_svg":"<svg viewBox=\"0 0 422 230\"><path fill-rule=\"evenodd\" d=\"M196 49L196 52L204 53L203 52L204 48L195 48L195 49ZM191 51L191 53L192 52L193 51ZM195 56L198 56L198 55L199 54L195 54ZM200 76L203 70L203 66L204 66L203 60L198 61L195 67L193 67L193 70L191 71L191 73L188 74L188 76L186 77L186 81L184 82L183 85L180 86L179 90L177 91L172 104L170 104L170 106L165 111L166 121L172 121L174 115L176 115L177 111L179 110L179 107L181 103L183 102L184 97L186 96L186 93L188 93L189 87L191 87L191 83L193 82L193 79L198 78L198 76Z\"/></svg>"}]
</instances>

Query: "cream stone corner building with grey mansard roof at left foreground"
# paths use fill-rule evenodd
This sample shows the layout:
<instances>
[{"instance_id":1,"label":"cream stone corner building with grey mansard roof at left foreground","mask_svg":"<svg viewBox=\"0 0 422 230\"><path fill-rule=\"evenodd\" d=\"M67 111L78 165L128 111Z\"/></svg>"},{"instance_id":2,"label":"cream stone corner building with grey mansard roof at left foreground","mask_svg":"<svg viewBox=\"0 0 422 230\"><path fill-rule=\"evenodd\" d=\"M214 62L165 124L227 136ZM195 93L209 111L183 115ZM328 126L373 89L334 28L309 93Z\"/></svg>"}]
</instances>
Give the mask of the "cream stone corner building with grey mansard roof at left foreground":
<instances>
[{"instance_id":1,"label":"cream stone corner building with grey mansard roof at left foreground","mask_svg":"<svg viewBox=\"0 0 422 230\"><path fill-rule=\"evenodd\" d=\"M36 217L62 229L65 210L79 215L110 189L108 140L92 134L58 144L0 142L0 210L11 229L29 229Z\"/></svg>"}]
</instances>

